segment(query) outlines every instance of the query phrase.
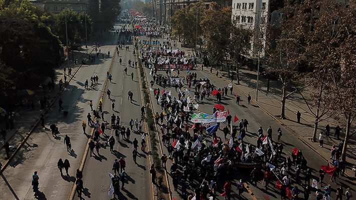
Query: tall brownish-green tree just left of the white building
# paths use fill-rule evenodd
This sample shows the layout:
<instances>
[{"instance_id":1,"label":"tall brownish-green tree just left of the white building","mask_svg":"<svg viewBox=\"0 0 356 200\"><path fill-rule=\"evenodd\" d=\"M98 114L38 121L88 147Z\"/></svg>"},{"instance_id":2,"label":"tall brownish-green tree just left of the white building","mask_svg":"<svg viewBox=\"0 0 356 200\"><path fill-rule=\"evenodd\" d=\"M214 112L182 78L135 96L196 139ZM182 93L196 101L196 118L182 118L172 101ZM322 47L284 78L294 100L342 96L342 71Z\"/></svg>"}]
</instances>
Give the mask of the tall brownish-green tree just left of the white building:
<instances>
[{"instance_id":1,"label":"tall brownish-green tree just left of the white building","mask_svg":"<svg viewBox=\"0 0 356 200\"><path fill-rule=\"evenodd\" d=\"M228 56L230 34L232 30L232 8L220 9L216 2L210 4L212 9L205 10L201 26L206 40L208 57L218 66L221 66Z\"/></svg>"}]
</instances>

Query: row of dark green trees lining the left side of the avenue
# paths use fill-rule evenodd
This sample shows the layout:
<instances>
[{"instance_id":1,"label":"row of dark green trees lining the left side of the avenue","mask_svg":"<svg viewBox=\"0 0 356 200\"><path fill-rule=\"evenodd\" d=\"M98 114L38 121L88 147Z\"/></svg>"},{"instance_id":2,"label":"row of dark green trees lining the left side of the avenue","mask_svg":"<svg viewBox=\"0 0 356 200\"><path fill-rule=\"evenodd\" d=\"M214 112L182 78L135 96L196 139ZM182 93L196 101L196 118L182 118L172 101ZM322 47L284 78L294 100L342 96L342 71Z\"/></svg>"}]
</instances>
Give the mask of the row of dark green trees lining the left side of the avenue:
<instances>
[{"instance_id":1,"label":"row of dark green trees lining the left side of the avenue","mask_svg":"<svg viewBox=\"0 0 356 200\"><path fill-rule=\"evenodd\" d=\"M18 86L39 84L54 77L62 62L61 45L68 40L85 41L85 13L69 9L53 14L33 7L28 1L0 1L0 82ZM92 23L87 17L88 36Z\"/></svg>"}]
</instances>

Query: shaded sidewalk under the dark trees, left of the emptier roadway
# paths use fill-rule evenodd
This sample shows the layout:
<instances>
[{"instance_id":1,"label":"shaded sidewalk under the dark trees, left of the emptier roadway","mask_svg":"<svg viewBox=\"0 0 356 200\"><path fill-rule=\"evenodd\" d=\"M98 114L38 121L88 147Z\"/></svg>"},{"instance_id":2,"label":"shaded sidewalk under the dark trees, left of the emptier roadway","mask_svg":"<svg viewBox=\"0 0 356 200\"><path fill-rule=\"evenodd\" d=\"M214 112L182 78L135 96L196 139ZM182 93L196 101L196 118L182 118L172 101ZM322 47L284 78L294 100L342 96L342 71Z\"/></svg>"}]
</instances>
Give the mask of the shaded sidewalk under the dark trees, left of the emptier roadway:
<instances>
[{"instance_id":1,"label":"shaded sidewalk under the dark trees, left of the emptier roadway","mask_svg":"<svg viewBox=\"0 0 356 200\"><path fill-rule=\"evenodd\" d=\"M88 53L92 51L93 48L88 46ZM72 54L69 56L69 65L72 68L72 76L67 76L67 82L63 84L63 87L65 87L68 82L74 77L76 71L79 69L81 66L79 61L82 59L86 59L86 48L85 45L82 46L82 48L78 51L74 51L74 59L78 60L77 65L75 65L72 62ZM64 82L64 74L63 74L63 68L67 68L67 75L68 75L68 61L66 60L60 67L55 69L55 74L56 77L54 79L55 81L55 89L49 91L47 87L47 83L51 81L51 78L48 77L46 80L44 80L44 84L46 85L46 91L43 92L41 86L37 86L35 88L28 88L31 90L35 91L34 95L28 96L29 99L33 99L35 102L35 109L34 110L28 110L26 106L26 100L25 104L22 106L15 107L13 109L13 119L14 119L14 128L11 130L7 131L7 136L5 142L9 142L10 145L15 145L15 149L23 142L27 134L31 131L32 128L35 127L36 122L40 119L42 114L46 114L49 110L52 109L52 104L53 102L58 98L58 96L61 94L61 91L59 90L59 80L63 79ZM40 99L42 97L46 96L48 99L49 104L51 107L47 108L41 108L40 106ZM45 115L45 123L47 124L48 121L46 120L46 115ZM0 129L5 128L5 124L0 124ZM4 164L8 161L8 158L6 156L5 149L3 148L4 143L0 143L0 166L1 166L1 171L4 171L6 166ZM10 156L13 156L13 153L15 151L10 151Z\"/></svg>"}]
</instances>

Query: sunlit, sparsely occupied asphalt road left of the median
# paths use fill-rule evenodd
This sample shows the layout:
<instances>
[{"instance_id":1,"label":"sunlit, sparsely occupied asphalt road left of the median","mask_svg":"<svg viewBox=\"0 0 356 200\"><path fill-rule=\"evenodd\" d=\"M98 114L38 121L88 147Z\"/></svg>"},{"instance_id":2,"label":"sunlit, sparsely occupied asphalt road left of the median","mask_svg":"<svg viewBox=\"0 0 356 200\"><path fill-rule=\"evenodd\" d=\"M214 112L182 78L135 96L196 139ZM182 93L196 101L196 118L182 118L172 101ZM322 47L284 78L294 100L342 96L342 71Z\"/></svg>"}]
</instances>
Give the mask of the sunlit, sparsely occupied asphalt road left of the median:
<instances>
[{"instance_id":1,"label":"sunlit, sparsely occupied asphalt road left of the median","mask_svg":"<svg viewBox=\"0 0 356 200\"><path fill-rule=\"evenodd\" d=\"M115 25L115 29L119 29L119 26ZM27 142L3 172L2 178L4 181L1 183L2 192L0 193L0 199L34 199L31 185L34 171L38 171L39 175L40 192L38 199L63 200L69 198L75 182L75 172L82 160L88 138L90 137L88 134L91 132L91 128L87 127L86 134L83 134L81 122L83 120L87 121L86 116L91 110L89 101L93 101L94 108L99 103L100 96L104 90L106 72L110 69L113 53L117 45L118 36L114 35L113 32L105 32L103 35L103 38L92 40L89 44L93 42L101 44L100 51L104 53L104 58L100 54L99 58L94 62L86 61L86 65L83 65L78 70L69 82L69 85L59 96L63 101L62 106L64 110L67 110L69 114L64 116L63 111L59 111L59 98L56 99L45 116L45 128L39 125L34 130ZM130 50L132 50L132 45L130 46ZM110 51L110 57L107 55L108 51ZM127 66L128 59L134 60L131 51L125 52L123 49L120 52L123 65ZM112 91L112 99L115 99L115 115L119 114L122 124L127 125L130 118L135 119L140 116L140 90L137 82L137 70L134 68L129 68L128 70L128 74L131 72L135 74L134 80L136 82L133 82L131 81L131 77L124 75L123 66L118 64L118 59L116 56L114 65L112 66L113 83L109 83L108 87ZM74 71L72 74L74 74ZM60 70L57 75L59 79L63 78L63 70ZM92 76L98 76L98 87L96 89L85 89L85 80L88 79L90 84L90 77ZM67 81L69 80L70 77L68 77ZM126 98L129 89L134 93L132 104ZM51 100L53 100L57 92L58 85L56 85L55 92L48 93ZM111 102L104 96L103 103L104 117L110 121L109 115L113 113ZM61 132L56 137L52 136L49 129L51 122L55 122ZM105 133L109 135L110 129L106 130ZM72 150L70 151L67 151L66 145L63 143L66 134L71 139ZM137 137L140 141L140 134L131 133L131 138L134 137ZM142 181L149 180L147 155L139 152L137 158L138 164L135 165L132 162L131 144L128 141L116 143L115 154L110 154L106 140L101 140L100 158L97 156L88 157L86 160L83 170L84 191L82 199L110 198L107 196L107 193L111 180L107 171L113 173L111 170L112 162L116 157L125 157L127 163L126 172L128 176L126 179L127 184L125 185L126 190L123 191L120 199L141 199L138 196L142 196L144 199L151 199L149 181ZM58 170L57 162L60 158L63 160L68 159L70 162L68 175L66 175L64 169L63 175ZM139 184L134 184L135 182ZM134 186L144 189L134 190Z\"/></svg>"}]
</instances>

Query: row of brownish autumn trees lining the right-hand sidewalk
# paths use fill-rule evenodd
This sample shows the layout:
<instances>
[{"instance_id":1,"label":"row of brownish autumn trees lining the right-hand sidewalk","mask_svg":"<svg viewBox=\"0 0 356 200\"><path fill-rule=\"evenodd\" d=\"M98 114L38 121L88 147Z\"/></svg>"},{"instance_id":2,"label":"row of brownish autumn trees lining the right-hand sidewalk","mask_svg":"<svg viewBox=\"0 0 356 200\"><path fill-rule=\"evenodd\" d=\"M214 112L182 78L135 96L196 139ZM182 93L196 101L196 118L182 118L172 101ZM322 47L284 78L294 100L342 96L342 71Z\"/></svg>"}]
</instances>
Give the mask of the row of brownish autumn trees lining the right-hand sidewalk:
<instances>
[{"instance_id":1,"label":"row of brownish autumn trees lining the right-hand sidewalk","mask_svg":"<svg viewBox=\"0 0 356 200\"><path fill-rule=\"evenodd\" d=\"M173 34L191 44L197 34L214 63L222 65L230 56L237 76L238 57L249 52L252 39L264 52L255 56L265 55L260 60L269 66L267 73L281 83L281 118L286 118L286 99L300 93L315 118L312 141L316 141L320 121L332 117L344 125L341 158L346 160L349 138L356 134L356 1L286 0L277 24L271 24L271 14L267 14L251 29L235 26L231 8L220 9L213 2L211 9L199 10L203 5L199 2L175 12ZM308 96L303 93L306 89Z\"/></svg>"}]
</instances>

